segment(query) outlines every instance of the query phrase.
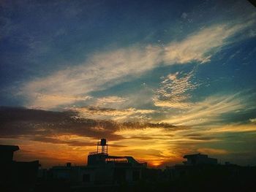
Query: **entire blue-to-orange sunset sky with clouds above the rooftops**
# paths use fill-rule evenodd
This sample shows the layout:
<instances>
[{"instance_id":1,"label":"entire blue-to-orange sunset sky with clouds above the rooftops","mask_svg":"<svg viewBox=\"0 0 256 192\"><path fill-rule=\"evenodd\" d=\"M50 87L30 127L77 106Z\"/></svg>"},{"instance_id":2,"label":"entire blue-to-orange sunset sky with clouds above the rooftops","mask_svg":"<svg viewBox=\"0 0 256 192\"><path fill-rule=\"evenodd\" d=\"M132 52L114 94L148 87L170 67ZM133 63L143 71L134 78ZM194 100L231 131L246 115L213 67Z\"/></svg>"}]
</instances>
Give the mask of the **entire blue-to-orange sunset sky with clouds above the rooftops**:
<instances>
[{"instance_id":1,"label":"entire blue-to-orange sunset sky with clouds above the rooftops","mask_svg":"<svg viewBox=\"0 0 256 192\"><path fill-rule=\"evenodd\" d=\"M256 166L249 1L0 1L0 143L17 161Z\"/></svg>"}]
</instances>

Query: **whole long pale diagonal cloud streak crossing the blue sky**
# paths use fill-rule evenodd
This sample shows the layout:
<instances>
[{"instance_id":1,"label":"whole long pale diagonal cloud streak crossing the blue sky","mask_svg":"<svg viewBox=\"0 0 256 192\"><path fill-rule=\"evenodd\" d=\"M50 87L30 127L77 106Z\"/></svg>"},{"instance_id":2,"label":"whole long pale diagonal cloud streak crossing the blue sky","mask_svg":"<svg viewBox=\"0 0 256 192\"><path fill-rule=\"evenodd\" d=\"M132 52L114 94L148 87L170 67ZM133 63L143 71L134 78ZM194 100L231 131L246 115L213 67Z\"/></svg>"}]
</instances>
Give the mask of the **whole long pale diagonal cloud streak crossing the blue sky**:
<instances>
[{"instance_id":1,"label":"whole long pale diagonal cloud streak crossing the blue sky","mask_svg":"<svg viewBox=\"0 0 256 192\"><path fill-rule=\"evenodd\" d=\"M191 61L206 63L223 46L233 40L234 34L252 26L253 20L245 23L209 26L187 38L160 47L159 45L133 45L130 47L94 53L79 66L72 66L26 82L20 94L28 100L26 106L51 108L61 104L72 104L86 97L91 91L100 91L136 78L157 66L187 64ZM54 96L63 96L54 104ZM45 99L48 97L48 99ZM50 103L50 104L49 104Z\"/></svg>"}]
</instances>

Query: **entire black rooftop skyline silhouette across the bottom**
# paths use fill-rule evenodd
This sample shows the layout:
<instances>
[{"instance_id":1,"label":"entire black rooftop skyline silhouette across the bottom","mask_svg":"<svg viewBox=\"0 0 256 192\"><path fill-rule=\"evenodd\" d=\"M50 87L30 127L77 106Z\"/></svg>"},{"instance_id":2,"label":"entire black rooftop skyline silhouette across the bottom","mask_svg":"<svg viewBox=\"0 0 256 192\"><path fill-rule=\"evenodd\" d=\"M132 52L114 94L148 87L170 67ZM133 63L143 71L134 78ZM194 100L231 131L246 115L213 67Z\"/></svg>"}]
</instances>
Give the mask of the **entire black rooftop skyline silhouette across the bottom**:
<instances>
[{"instance_id":1,"label":"entire black rooftop skyline silhouette across the bottom","mask_svg":"<svg viewBox=\"0 0 256 192\"><path fill-rule=\"evenodd\" d=\"M106 146L105 140L99 146ZM208 155L184 155L184 164L149 169L130 156L89 154L87 166L39 169L39 161L13 161L18 146L0 145L0 191L256 191L256 166L217 164ZM104 161L103 161L104 160Z\"/></svg>"}]
</instances>

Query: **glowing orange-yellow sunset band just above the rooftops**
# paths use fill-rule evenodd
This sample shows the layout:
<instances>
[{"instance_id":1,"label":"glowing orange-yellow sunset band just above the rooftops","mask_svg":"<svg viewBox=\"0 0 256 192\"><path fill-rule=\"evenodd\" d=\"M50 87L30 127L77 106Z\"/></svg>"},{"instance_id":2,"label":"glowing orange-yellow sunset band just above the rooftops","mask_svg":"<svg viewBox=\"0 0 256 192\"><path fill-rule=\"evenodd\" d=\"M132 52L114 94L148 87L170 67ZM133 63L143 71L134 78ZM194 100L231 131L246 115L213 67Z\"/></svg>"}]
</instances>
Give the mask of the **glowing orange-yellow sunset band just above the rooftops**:
<instances>
[{"instance_id":1,"label":"glowing orange-yellow sunset band just above the rooftops","mask_svg":"<svg viewBox=\"0 0 256 192\"><path fill-rule=\"evenodd\" d=\"M214 132L214 129L216 132ZM124 128L115 132L123 139L109 140L108 153L110 155L130 155L139 162L146 162L151 167L181 164L184 154L206 153L208 155L228 155L229 150L212 147L201 147L202 144L219 142L219 139L200 140L196 135L203 133L212 136L238 131L252 131L255 127L222 126L207 130L191 132L191 130L167 128ZM171 134L170 134L171 133ZM187 136L189 134L189 136ZM33 137L34 138L34 137ZM81 137L75 134L59 134L45 137L41 140L31 140L31 137L19 139L1 139L2 144L18 145L20 150L15 152L16 161L39 160L42 167L64 165L71 162L76 165L86 165L89 152L97 151L97 139Z\"/></svg>"}]
</instances>

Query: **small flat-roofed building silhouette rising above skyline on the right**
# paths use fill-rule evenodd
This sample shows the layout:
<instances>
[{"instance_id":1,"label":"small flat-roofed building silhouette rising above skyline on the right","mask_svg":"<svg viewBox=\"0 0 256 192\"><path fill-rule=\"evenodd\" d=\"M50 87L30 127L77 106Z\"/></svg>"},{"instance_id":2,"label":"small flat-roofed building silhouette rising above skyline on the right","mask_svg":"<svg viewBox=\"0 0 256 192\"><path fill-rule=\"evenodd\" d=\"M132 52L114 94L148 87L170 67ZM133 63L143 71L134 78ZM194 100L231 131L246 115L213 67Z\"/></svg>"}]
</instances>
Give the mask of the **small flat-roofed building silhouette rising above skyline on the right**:
<instances>
[{"instance_id":1,"label":"small flat-roofed building silhouette rising above skyline on the right","mask_svg":"<svg viewBox=\"0 0 256 192\"><path fill-rule=\"evenodd\" d=\"M187 161L183 161L185 165L198 165L198 164L217 164L217 158L208 158L208 155L200 153L192 155L184 155L183 158L187 158Z\"/></svg>"}]
</instances>

